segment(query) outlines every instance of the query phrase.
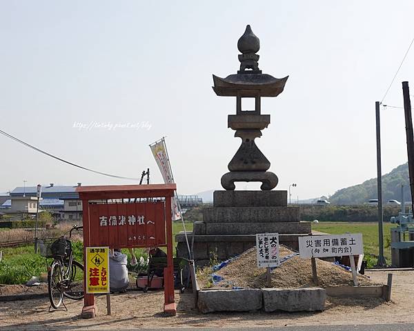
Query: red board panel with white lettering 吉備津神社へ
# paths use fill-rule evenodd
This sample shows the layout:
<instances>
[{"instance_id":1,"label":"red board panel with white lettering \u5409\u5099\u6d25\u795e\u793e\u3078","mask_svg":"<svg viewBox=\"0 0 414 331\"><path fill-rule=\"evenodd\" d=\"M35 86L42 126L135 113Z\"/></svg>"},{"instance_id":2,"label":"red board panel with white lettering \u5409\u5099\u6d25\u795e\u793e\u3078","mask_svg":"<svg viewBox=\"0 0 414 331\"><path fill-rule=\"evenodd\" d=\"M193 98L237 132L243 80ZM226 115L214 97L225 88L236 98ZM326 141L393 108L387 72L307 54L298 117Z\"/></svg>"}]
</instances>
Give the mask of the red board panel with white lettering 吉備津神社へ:
<instances>
[{"instance_id":1,"label":"red board panel with white lettering \u5409\u5099\u6d25\u795e\u793e\u3078","mask_svg":"<svg viewBox=\"0 0 414 331\"><path fill-rule=\"evenodd\" d=\"M164 201L90 204L89 212L96 245L132 248L166 244Z\"/></svg>"}]
</instances>

